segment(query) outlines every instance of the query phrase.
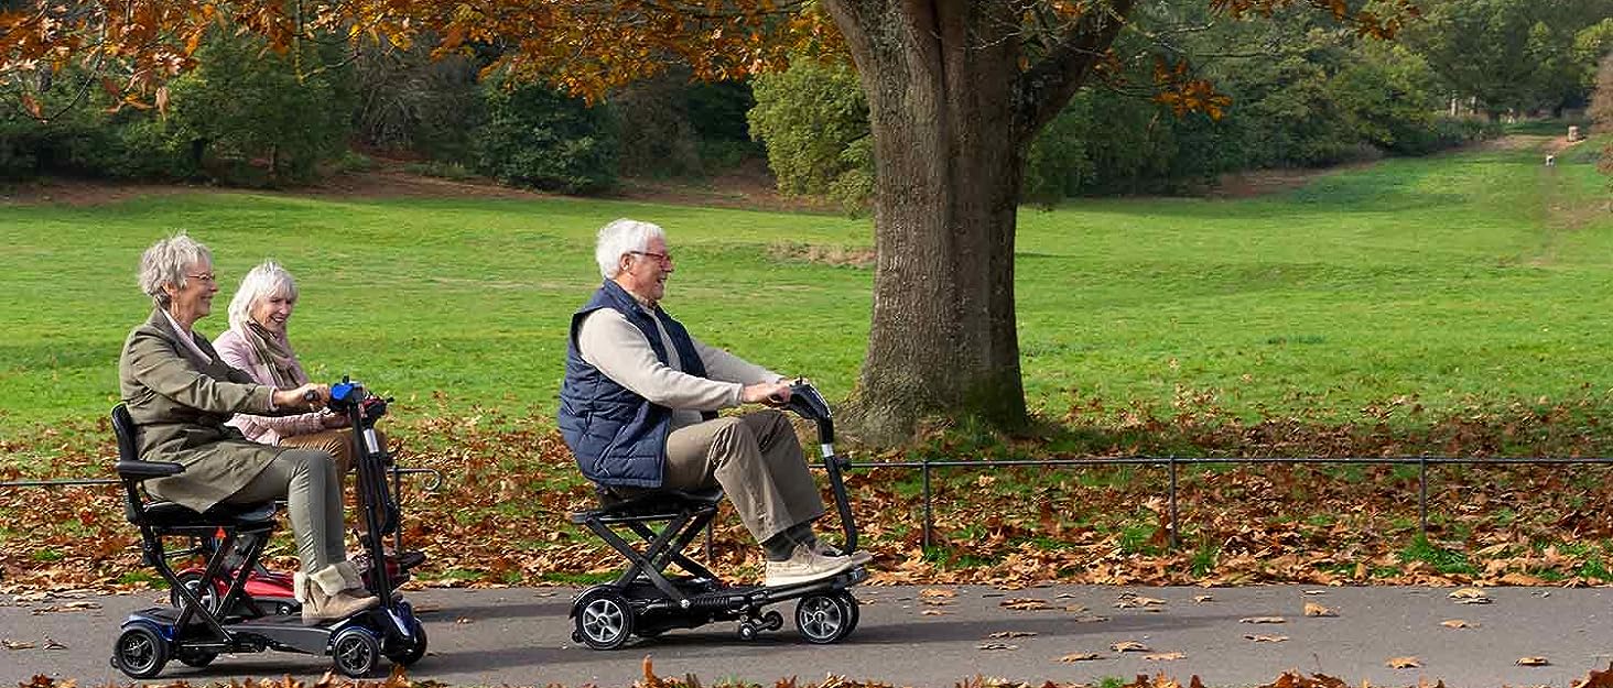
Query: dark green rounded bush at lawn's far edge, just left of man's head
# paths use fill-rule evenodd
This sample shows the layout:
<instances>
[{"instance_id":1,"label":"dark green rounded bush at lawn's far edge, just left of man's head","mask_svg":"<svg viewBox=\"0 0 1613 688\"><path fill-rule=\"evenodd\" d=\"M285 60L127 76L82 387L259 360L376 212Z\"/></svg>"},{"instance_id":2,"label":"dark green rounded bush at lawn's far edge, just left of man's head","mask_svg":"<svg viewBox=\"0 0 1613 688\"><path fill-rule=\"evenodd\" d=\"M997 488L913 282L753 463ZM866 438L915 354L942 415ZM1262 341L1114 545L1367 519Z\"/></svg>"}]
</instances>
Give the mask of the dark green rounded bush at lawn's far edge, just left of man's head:
<instances>
[{"instance_id":1,"label":"dark green rounded bush at lawn's far edge, just left of man's head","mask_svg":"<svg viewBox=\"0 0 1613 688\"><path fill-rule=\"evenodd\" d=\"M482 95L487 122L471 145L479 172L561 193L616 185L618 139L605 108L589 108L545 84L503 77L487 81Z\"/></svg>"}]
</instances>

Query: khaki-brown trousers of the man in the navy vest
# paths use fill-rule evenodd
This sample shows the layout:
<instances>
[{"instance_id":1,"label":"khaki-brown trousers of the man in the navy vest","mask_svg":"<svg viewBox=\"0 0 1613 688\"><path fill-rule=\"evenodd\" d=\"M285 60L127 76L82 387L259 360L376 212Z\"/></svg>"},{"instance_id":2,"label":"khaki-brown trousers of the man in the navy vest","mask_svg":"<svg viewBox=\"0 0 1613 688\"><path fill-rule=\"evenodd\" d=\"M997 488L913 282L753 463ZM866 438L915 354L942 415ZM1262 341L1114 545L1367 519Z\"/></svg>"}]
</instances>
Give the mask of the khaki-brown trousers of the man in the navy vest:
<instances>
[{"instance_id":1,"label":"khaki-brown trousers of the man in the navy vest","mask_svg":"<svg viewBox=\"0 0 1613 688\"><path fill-rule=\"evenodd\" d=\"M673 490L723 487L758 543L823 516L795 427L779 411L727 416L673 430L666 472Z\"/></svg>"}]
</instances>

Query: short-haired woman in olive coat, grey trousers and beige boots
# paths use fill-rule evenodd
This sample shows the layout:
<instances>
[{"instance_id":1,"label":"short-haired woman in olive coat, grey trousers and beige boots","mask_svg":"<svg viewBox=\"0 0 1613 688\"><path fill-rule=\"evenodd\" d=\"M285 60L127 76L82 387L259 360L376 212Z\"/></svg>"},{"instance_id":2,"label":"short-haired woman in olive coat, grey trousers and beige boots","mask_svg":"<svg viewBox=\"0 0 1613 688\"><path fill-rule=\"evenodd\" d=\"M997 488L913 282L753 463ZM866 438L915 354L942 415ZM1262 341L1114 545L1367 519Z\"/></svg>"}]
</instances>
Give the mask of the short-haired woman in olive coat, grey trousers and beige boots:
<instances>
[{"instance_id":1,"label":"short-haired woman in olive coat, grey trousers and beige boots","mask_svg":"<svg viewBox=\"0 0 1613 688\"><path fill-rule=\"evenodd\" d=\"M303 622L345 619L379 603L342 548L342 488L331 454L248 441L232 414L290 414L323 406L326 385L263 385L226 364L195 322L213 311L213 253L184 232L140 256L140 288L156 306L129 332L118 387L145 461L184 464L152 480L152 495L195 511L286 499L302 570Z\"/></svg>"}]
</instances>

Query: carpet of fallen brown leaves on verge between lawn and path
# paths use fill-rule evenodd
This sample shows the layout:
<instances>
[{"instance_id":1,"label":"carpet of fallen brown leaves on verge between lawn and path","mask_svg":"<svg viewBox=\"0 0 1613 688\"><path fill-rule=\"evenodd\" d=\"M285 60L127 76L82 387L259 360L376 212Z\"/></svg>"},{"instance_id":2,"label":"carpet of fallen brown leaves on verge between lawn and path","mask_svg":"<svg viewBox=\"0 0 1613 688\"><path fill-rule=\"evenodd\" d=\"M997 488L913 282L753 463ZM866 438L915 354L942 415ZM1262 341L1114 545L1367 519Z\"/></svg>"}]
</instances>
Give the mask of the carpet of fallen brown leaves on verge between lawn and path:
<instances>
[{"instance_id":1,"label":"carpet of fallen brown leaves on verge between lawn and path","mask_svg":"<svg viewBox=\"0 0 1613 688\"><path fill-rule=\"evenodd\" d=\"M429 403L426 404L429 406ZM405 466L444 472L424 493L405 479L410 546L431 554L411 585L542 585L597 580L618 559L565 514L592 506L592 488L542 417L398 404L389 435ZM1390 422L1411 403L1363 409L1376 425L1315 419L1245 424L1187 395L1168 411L1077 401L1066 421L1092 427L1094 454L1165 454L1181 446L1232 456L1402 456L1516 451L1558 456L1600 450L1573 421L1574 404L1474 409L1419 432ZM452 414L450 414L452 412ZM434 414L434 416L432 416ZM1053 440L958 438L936 433L915 450L939 458L1068 456ZM106 477L115 454L105 421L11 435L0 451L29 456L0 480ZM853 454L857 461L911 454ZM1613 569L1607 467L1452 466L1431 469L1428 540L1418 538L1416 474L1395 466L1184 467L1179 541L1168 546L1166 475L1148 467L937 470L934 541L924 553L918 472L858 469L850 493L873 583L1040 582L1100 585L1397 583L1602 585ZM47 498L48 495L48 498ZM144 590L135 533L111 487L0 488L0 593ZM827 530L832 532L832 524ZM271 549L287 567L290 548ZM731 516L713 533L715 569L756 575L756 548ZM1478 599L1474 599L1478 603ZM1150 609L1147 599L1131 601ZM945 614L936 609L931 614Z\"/></svg>"}]
</instances>

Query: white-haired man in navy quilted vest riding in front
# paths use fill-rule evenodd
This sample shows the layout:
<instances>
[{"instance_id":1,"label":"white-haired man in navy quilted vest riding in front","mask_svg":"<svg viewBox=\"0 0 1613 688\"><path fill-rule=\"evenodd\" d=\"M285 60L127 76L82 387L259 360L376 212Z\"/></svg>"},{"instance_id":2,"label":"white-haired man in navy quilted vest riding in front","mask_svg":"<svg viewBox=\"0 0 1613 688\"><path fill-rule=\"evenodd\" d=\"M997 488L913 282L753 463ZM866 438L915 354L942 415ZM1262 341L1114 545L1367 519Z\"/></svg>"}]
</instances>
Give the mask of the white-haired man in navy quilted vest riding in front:
<instances>
[{"instance_id":1,"label":"white-haired man in navy quilted vest riding in front","mask_svg":"<svg viewBox=\"0 0 1613 688\"><path fill-rule=\"evenodd\" d=\"M594 251L603 285L571 316L560 430L582 474L631 496L721 485L766 557L766 585L797 585L868 561L819 543L824 514L795 429L765 409L718 417L731 406L787 400L782 375L689 335L661 308L673 256L666 232L618 219Z\"/></svg>"}]
</instances>

